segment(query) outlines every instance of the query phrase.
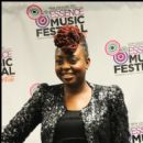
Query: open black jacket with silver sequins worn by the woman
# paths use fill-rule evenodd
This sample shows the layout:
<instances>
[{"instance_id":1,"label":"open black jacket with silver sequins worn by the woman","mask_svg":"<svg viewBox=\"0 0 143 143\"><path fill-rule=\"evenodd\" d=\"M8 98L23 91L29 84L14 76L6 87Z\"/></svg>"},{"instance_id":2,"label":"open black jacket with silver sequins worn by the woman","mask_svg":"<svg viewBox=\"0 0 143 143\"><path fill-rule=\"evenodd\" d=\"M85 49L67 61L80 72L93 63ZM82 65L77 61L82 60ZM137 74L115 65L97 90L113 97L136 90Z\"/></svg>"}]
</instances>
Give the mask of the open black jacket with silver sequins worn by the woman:
<instances>
[{"instance_id":1,"label":"open black jacket with silver sequins worn by the woman","mask_svg":"<svg viewBox=\"0 0 143 143\"><path fill-rule=\"evenodd\" d=\"M92 97L81 110L88 143L130 143L128 110L121 88L94 84L89 86L92 88ZM1 143L23 143L38 123L42 123L42 143L52 143L55 124L66 111L63 87L63 84L41 84L6 127Z\"/></svg>"}]
</instances>

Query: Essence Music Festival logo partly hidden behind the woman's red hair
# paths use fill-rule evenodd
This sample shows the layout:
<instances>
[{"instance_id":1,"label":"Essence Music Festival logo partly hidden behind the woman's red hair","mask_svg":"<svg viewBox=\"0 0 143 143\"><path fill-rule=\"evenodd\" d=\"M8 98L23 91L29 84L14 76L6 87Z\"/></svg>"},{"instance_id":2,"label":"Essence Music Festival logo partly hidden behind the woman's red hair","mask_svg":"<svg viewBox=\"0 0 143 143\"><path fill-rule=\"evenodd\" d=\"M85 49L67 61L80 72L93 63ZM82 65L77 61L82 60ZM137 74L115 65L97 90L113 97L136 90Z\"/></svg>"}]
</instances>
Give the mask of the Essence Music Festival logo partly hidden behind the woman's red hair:
<instances>
[{"instance_id":1,"label":"Essence Music Festival logo partly hidden behind the woman's red hair","mask_svg":"<svg viewBox=\"0 0 143 143\"><path fill-rule=\"evenodd\" d=\"M62 25L77 25L86 35L85 13L82 7L75 4L41 8L31 4L26 9L28 16L35 22L36 37L53 37Z\"/></svg>"}]
</instances>

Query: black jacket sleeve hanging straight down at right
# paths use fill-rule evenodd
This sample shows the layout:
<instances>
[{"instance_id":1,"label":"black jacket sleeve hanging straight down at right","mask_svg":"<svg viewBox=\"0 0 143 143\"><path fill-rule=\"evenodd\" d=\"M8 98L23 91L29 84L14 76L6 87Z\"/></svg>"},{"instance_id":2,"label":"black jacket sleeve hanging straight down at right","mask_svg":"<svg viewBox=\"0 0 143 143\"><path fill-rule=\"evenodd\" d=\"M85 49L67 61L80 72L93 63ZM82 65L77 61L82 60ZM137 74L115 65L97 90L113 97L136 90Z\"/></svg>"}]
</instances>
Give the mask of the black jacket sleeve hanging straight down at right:
<instances>
[{"instance_id":1,"label":"black jacket sleeve hanging straight down at right","mask_svg":"<svg viewBox=\"0 0 143 143\"><path fill-rule=\"evenodd\" d=\"M130 143L128 109L120 87L109 91L111 143Z\"/></svg>"}]
</instances>

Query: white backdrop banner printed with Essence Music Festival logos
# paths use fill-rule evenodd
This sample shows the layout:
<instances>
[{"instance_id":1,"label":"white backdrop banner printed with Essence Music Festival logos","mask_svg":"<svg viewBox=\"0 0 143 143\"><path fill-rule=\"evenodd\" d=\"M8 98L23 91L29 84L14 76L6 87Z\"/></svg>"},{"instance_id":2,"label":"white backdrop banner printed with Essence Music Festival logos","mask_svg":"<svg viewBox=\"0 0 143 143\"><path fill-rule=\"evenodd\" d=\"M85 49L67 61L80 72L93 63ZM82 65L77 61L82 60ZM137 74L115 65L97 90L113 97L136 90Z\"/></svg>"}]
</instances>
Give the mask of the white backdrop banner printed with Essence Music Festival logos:
<instances>
[{"instance_id":1,"label":"white backdrop banner printed with Essence Music Festival logos","mask_svg":"<svg viewBox=\"0 0 143 143\"><path fill-rule=\"evenodd\" d=\"M53 36L65 24L77 25L87 37L87 80L122 88L131 143L143 143L142 2L2 2L2 128L38 84L61 82ZM41 143L40 130L25 143Z\"/></svg>"}]
</instances>

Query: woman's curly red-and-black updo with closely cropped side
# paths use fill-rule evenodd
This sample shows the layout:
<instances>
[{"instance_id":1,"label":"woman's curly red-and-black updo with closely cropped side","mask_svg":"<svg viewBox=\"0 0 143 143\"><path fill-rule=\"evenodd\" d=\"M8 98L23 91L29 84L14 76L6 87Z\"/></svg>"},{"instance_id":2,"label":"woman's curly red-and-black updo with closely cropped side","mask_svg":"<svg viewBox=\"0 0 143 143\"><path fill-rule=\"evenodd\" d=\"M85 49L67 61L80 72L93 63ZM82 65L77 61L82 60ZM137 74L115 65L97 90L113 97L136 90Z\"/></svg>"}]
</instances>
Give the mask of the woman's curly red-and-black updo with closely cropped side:
<instances>
[{"instance_id":1,"label":"woman's curly red-and-black updo with closely cropped side","mask_svg":"<svg viewBox=\"0 0 143 143\"><path fill-rule=\"evenodd\" d=\"M73 53L80 44L85 50L86 57L89 56L86 37L76 25L61 26L54 36L54 43L68 54Z\"/></svg>"}]
</instances>

